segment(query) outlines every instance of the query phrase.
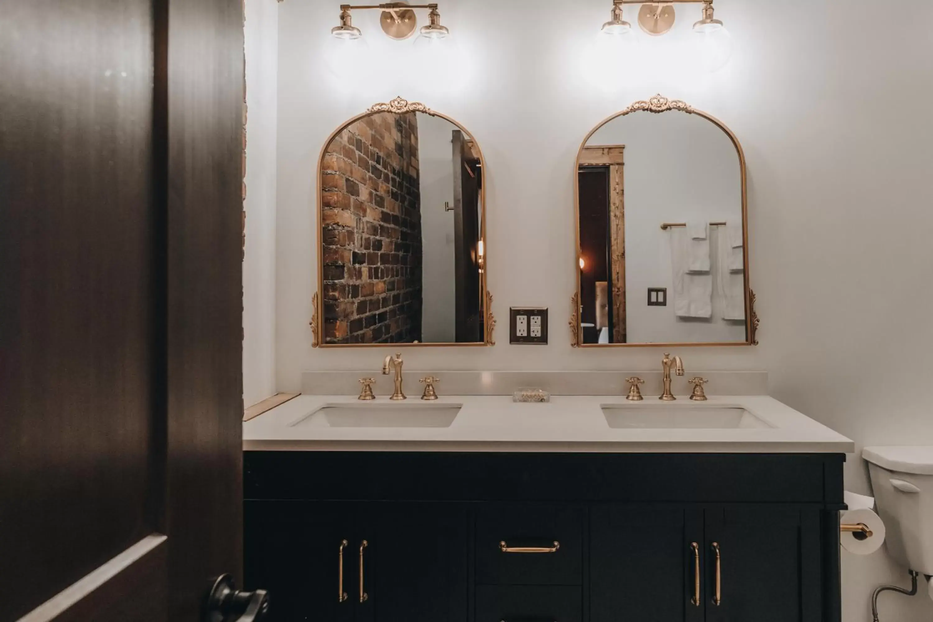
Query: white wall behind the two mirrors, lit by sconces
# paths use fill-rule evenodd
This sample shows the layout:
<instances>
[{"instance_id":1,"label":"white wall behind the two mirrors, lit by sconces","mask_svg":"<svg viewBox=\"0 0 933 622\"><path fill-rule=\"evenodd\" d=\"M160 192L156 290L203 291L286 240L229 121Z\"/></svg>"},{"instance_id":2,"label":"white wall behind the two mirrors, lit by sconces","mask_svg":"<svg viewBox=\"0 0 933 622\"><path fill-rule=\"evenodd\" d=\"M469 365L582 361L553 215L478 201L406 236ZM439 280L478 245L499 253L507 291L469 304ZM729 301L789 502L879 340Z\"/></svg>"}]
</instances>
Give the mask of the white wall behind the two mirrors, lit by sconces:
<instances>
[{"instance_id":1,"label":"white wall behind the two mirrors, lit by sconces","mask_svg":"<svg viewBox=\"0 0 933 622\"><path fill-rule=\"evenodd\" d=\"M257 0L253 0L257 1ZM271 1L271 0L270 0ZM757 348L680 352L689 369L766 369L772 394L866 444L933 442L923 365L933 350L933 3L909 18L867 0L717 0L736 50L713 76L693 70L684 42L698 7L677 6L672 33L637 30L620 79L582 62L609 3L472 0L441 6L460 55L393 63L378 15L354 23L383 68L372 81L322 62L337 4L285 0L279 16L276 388L305 369L375 371L387 349L313 350L316 287L314 167L330 131L377 101L403 95L462 122L486 158L494 348L410 348L420 369L655 369L661 349L574 350L573 175L580 141L603 118L656 92L727 123L749 173L751 283L762 320ZM373 12L375 13L375 12ZM629 21L634 10L626 9ZM518 29L516 24L525 28ZM444 69L441 71L440 69ZM818 270L815 270L818 268ZM510 306L547 306L550 345L508 345ZM442 374L441 374L442 376ZM442 385L441 385L442 386ZM710 387L711 392L716 391ZM868 492L856 456L847 486ZM905 569L884 554L843 555L846 622L870 620L871 588ZM883 620L920 622L933 602L885 594Z\"/></svg>"}]
</instances>

